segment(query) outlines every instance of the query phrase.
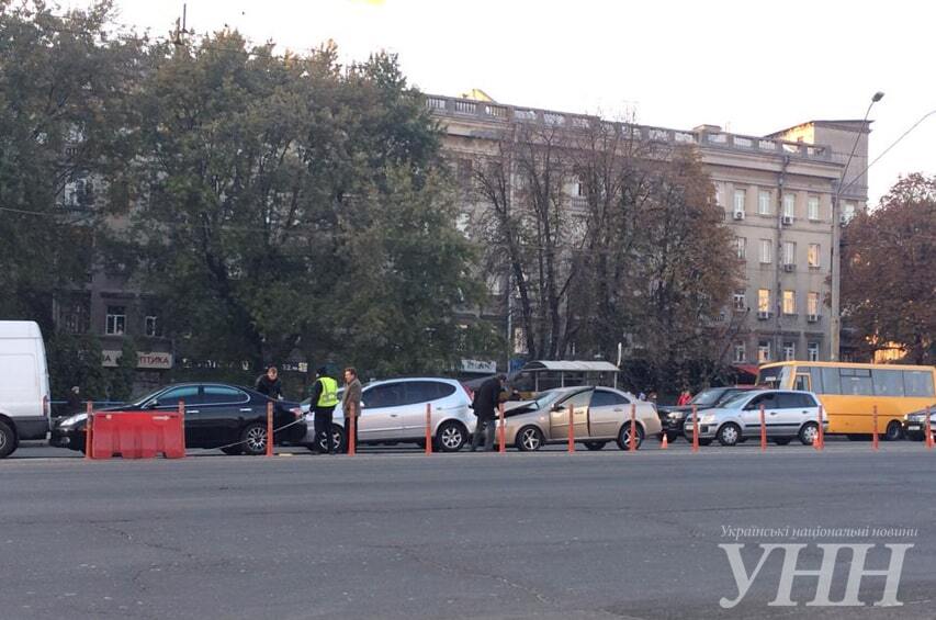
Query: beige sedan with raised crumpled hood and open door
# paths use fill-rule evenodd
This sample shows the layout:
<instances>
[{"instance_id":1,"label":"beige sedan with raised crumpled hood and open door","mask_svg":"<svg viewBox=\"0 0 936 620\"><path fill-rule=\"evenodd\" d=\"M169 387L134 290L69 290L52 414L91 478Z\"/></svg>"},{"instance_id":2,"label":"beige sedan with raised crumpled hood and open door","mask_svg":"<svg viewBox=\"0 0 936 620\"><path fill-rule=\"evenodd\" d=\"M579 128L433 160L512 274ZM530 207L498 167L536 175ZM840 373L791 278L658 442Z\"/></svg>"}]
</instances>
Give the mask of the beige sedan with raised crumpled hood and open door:
<instances>
[{"instance_id":1,"label":"beige sedan with raised crumpled hood and open door","mask_svg":"<svg viewBox=\"0 0 936 620\"><path fill-rule=\"evenodd\" d=\"M568 409L573 408L573 435L588 450L600 450L617 441L628 450L631 439L631 406L636 412L634 446L659 435L659 417L653 403L638 401L611 387L559 387L541 392L534 401L518 403L505 412L505 442L518 450L534 451L546 443L568 441Z\"/></svg>"}]
</instances>

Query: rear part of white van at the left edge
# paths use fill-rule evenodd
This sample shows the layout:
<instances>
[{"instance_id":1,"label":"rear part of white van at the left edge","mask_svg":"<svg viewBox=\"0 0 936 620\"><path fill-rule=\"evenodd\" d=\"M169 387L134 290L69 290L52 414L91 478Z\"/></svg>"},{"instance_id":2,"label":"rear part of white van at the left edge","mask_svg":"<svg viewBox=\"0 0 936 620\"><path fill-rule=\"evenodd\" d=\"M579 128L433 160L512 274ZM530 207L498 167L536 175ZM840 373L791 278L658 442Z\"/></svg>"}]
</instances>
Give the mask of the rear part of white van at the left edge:
<instances>
[{"instance_id":1,"label":"rear part of white van at the left edge","mask_svg":"<svg viewBox=\"0 0 936 620\"><path fill-rule=\"evenodd\" d=\"M40 326L0 320L0 459L22 439L45 439L49 428L48 369Z\"/></svg>"}]
</instances>

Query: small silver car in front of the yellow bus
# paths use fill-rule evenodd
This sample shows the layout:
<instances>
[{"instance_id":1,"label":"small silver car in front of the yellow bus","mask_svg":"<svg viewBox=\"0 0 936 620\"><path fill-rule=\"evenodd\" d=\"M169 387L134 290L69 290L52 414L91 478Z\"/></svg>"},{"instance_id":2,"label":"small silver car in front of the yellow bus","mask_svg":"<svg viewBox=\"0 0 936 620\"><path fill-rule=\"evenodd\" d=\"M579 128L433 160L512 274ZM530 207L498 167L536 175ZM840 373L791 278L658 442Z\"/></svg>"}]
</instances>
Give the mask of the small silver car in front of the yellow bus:
<instances>
[{"instance_id":1,"label":"small silver car in front of the yellow bus","mask_svg":"<svg viewBox=\"0 0 936 620\"><path fill-rule=\"evenodd\" d=\"M819 398L812 392L763 390L740 392L719 407L706 409L699 416L699 442L711 443L718 439L722 446L735 446L746 439L760 437L760 406L764 406L767 438L786 446L799 438L812 446L819 435ZM684 430L691 440L692 420L686 420ZM823 429L828 417L823 414Z\"/></svg>"}]
</instances>

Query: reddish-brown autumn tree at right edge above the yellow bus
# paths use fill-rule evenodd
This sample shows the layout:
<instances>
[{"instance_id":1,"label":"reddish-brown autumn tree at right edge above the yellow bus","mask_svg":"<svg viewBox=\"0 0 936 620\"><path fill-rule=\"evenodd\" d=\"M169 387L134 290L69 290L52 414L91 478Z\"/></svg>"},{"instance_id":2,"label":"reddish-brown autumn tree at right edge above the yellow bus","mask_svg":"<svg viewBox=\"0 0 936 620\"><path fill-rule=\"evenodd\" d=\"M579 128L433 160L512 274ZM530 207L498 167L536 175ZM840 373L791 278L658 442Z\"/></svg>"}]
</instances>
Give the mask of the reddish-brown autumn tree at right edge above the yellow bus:
<instances>
[{"instance_id":1,"label":"reddish-brown autumn tree at right edge above the yellow bus","mask_svg":"<svg viewBox=\"0 0 936 620\"><path fill-rule=\"evenodd\" d=\"M842 312L859 353L896 347L907 362L936 361L936 176L902 178L845 228Z\"/></svg>"}]
</instances>

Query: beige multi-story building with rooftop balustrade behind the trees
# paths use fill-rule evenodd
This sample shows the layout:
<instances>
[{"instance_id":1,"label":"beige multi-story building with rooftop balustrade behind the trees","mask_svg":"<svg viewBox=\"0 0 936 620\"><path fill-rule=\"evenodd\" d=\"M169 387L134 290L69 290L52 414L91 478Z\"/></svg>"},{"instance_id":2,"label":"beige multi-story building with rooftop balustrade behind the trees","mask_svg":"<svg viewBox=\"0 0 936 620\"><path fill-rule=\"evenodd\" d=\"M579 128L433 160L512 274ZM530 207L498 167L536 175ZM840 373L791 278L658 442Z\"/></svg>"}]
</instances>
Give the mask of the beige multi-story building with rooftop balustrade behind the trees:
<instances>
[{"instance_id":1,"label":"beige multi-story building with rooftop balustrade behind the trees","mask_svg":"<svg viewBox=\"0 0 936 620\"><path fill-rule=\"evenodd\" d=\"M469 98L429 95L427 105L444 127L446 150L459 159L496 150L511 123L574 128L589 120ZM745 286L720 317L736 325L729 361L830 359L834 232L867 202L867 180L856 172L867 165L869 124L812 121L768 136L713 125L636 132L641 139L698 147L734 232ZM853 147L850 174L842 180ZM842 215L833 218L839 182Z\"/></svg>"}]
</instances>

